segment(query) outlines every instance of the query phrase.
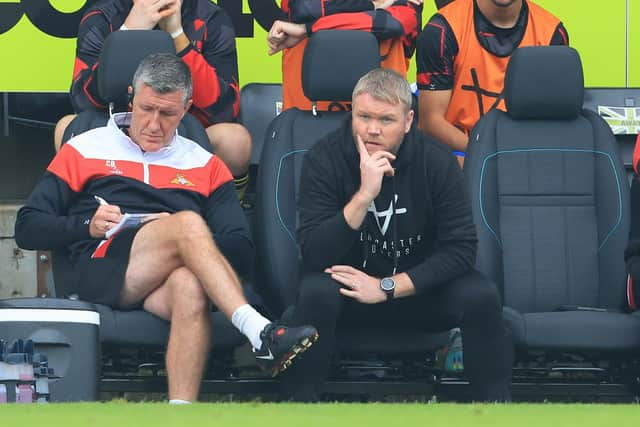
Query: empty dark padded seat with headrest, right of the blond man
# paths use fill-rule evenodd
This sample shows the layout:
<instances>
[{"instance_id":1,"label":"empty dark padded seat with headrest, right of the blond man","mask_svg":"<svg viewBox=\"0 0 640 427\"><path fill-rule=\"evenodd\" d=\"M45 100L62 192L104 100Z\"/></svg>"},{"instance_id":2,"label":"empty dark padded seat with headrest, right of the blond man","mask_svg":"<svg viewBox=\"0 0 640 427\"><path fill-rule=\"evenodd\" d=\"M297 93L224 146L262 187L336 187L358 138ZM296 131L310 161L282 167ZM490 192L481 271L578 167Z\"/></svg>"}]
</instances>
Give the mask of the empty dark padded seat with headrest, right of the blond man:
<instances>
[{"instance_id":1,"label":"empty dark padded seat with headrest, right of the blond man","mask_svg":"<svg viewBox=\"0 0 640 427\"><path fill-rule=\"evenodd\" d=\"M640 319L622 312L629 187L611 129L582 110L583 93L574 49L518 49L508 113L490 111L470 134L477 267L501 288L519 349L640 349Z\"/></svg>"}]
</instances>

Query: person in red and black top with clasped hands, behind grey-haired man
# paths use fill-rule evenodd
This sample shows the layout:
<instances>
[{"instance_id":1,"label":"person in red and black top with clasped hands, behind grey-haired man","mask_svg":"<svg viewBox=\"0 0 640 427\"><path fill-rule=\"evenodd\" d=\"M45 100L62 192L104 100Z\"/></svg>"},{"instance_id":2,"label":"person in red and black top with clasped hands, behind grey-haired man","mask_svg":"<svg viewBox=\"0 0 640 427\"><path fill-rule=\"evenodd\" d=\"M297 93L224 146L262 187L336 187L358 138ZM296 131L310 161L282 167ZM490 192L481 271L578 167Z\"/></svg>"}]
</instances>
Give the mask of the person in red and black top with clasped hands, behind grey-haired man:
<instances>
[{"instance_id":1,"label":"person in red and black top with clasped hands, behind grey-haired man","mask_svg":"<svg viewBox=\"0 0 640 427\"><path fill-rule=\"evenodd\" d=\"M74 110L107 108L100 99L96 76L100 50L113 31L159 29L174 40L176 54L193 77L190 112L207 130L215 153L246 185L251 158L251 137L234 123L240 108L235 32L224 9L209 0L99 0L85 13L78 29L76 60L71 85ZM74 116L56 127L59 150L64 129Z\"/></svg>"}]
</instances>

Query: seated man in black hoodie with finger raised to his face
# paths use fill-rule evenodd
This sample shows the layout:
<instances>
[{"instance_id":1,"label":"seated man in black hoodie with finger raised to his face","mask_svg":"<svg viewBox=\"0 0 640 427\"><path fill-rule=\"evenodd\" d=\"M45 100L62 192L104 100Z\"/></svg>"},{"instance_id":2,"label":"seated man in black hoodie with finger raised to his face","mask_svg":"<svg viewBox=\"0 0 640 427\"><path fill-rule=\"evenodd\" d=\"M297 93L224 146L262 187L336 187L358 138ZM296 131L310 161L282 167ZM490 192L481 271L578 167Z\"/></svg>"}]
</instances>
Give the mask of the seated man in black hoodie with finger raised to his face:
<instances>
[{"instance_id":1,"label":"seated man in black hoodie with finger raised to his face","mask_svg":"<svg viewBox=\"0 0 640 427\"><path fill-rule=\"evenodd\" d=\"M462 171L415 129L394 71L360 79L351 117L306 155L299 239L305 276L292 324L322 340L288 372L294 400L317 399L342 325L462 328L473 398L510 398L512 344L495 285L473 270L476 232Z\"/></svg>"}]
</instances>

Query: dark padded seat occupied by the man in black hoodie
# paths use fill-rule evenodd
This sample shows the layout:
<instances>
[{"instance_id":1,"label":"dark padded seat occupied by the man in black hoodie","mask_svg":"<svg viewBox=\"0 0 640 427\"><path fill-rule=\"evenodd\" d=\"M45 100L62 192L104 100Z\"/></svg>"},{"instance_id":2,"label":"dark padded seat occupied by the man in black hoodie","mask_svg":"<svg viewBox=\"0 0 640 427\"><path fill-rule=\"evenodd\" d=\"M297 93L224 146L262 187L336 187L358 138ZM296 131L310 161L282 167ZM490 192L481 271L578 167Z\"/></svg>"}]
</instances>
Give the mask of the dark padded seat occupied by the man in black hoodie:
<instances>
[{"instance_id":1,"label":"dark padded seat occupied by the man in black hoodie","mask_svg":"<svg viewBox=\"0 0 640 427\"><path fill-rule=\"evenodd\" d=\"M351 99L358 79L379 64L378 42L370 33L315 33L304 52L305 95L314 102ZM295 303L298 288L297 197L303 157L347 114L291 108L268 128L257 183L256 258L260 289L279 312ZM359 329L339 331L337 345L347 352L424 353L446 339L446 333Z\"/></svg>"}]
</instances>

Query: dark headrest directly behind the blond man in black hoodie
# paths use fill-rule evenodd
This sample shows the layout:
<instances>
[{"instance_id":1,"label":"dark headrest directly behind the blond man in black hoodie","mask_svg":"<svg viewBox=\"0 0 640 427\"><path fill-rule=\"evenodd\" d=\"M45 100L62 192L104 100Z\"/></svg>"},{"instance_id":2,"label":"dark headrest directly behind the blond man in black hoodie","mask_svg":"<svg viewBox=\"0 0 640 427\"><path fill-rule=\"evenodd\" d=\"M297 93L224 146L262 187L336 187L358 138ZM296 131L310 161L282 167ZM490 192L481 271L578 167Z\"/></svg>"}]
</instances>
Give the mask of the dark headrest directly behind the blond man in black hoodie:
<instances>
[{"instance_id":1,"label":"dark headrest directly behind the blond man in black hoodie","mask_svg":"<svg viewBox=\"0 0 640 427\"><path fill-rule=\"evenodd\" d=\"M360 77L380 67L376 37L364 31L327 30L309 37L302 89L311 101L347 101Z\"/></svg>"}]
</instances>

